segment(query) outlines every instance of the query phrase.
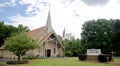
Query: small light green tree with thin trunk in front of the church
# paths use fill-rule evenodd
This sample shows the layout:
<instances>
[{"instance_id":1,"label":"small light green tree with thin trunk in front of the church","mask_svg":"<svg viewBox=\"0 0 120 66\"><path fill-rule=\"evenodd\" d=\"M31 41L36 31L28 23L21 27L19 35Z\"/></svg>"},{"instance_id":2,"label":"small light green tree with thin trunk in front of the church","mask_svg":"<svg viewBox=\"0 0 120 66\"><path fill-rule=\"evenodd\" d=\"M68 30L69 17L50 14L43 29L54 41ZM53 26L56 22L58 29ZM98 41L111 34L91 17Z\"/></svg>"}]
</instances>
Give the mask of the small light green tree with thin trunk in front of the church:
<instances>
[{"instance_id":1,"label":"small light green tree with thin trunk in front of the church","mask_svg":"<svg viewBox=\"0 0 120 66\"><path fill-rule=\"evenodd\" d=\"M24 56L28 50L35 49L37 47L38 42L36 40L32 40L32 38L25 32L10 36L6 39L5 44L5 49L18 56L19 62L20 58Z\"/></svg>"}]
</instances>

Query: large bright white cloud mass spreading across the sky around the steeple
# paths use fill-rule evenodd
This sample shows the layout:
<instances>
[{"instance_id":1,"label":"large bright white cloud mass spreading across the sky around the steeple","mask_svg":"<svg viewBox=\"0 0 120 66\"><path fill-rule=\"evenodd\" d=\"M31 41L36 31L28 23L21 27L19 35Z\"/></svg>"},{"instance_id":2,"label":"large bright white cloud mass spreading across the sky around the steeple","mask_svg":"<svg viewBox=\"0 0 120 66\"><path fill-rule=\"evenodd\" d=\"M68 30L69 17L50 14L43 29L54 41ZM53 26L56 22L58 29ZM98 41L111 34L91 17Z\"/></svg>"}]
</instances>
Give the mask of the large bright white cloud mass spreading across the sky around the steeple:
<instances>
[{"instance_id":1,"label":"large bright white cloud mass spreading across the sky around the steeple","mask_svg":"<svg viewBox=\"0 0 120 66\"><path fill-rule=\"evenodd\" d=\"M64 0L62 0L64 1ZM69 0L67 0L69 1ZM53 29L62 36L65 27L66 32L72 32L80 37L82 24L86 20L99 18L120 18L120 4L117 0L110 0L105 6L88 6L80 0L70 0L71 3L62 3L61 0L21 0L22 5L29 4L26 9L27 17L17 15L10 17L13 25L23 24L35 29L46 24L50 2ZM35 14L33 16L29 16ZM79 16L75 16L75 14Z\"/></svg>"}]
</instances>

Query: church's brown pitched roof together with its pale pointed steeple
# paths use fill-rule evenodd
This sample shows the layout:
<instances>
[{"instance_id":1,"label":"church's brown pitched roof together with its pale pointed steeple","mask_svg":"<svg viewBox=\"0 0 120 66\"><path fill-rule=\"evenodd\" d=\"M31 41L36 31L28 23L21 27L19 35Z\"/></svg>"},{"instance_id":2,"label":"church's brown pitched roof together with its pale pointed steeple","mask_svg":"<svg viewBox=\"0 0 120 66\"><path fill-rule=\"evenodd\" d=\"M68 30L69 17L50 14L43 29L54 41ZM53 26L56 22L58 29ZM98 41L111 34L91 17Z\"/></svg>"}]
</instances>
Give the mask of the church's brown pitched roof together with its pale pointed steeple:
<instances>
[{"instance_id":1,"label":"church's brown pitched roof together with its pale pointed steeple","mask_svg":"<svg viewBox=\"0 0 120 66\"><path fill-rule=\"evenodd\" d=\"M54 36L56 37L56 39L59 42L59 44L61 45L61 47L64 48L61 41L59 40L57 34L52 29L51 15L50 15L50 10L49 10L46 26L32 30L32 31L28 32L28 35L31 36L32 39L38 40L41 44L43 44L43 42L45 42L52 34L54 34Z\"/></svg>"}]
</instances>

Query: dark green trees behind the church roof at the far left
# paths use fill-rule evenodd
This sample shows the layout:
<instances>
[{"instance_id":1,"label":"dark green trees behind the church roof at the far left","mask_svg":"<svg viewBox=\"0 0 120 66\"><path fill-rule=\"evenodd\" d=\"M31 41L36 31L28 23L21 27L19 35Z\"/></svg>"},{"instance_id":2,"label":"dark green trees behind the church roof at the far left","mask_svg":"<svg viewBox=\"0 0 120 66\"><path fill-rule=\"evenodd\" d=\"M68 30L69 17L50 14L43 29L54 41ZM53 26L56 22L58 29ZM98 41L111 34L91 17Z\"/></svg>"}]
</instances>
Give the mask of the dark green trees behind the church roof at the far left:
<instances>
[{"instance_id":1,"label":"dark green trees behind the church roof at the far left","mask_svg":"<svg viewBox=\"0 0 120 66\"><path fill-rule=\"evenodd\" d=\"M0 21L0 47L4 44L5 39L12 34L28 31L29 28L27 26L18 25L18 27L14 27L13 25L5 25L4 21Z\"/></svg>"}]
</instances>

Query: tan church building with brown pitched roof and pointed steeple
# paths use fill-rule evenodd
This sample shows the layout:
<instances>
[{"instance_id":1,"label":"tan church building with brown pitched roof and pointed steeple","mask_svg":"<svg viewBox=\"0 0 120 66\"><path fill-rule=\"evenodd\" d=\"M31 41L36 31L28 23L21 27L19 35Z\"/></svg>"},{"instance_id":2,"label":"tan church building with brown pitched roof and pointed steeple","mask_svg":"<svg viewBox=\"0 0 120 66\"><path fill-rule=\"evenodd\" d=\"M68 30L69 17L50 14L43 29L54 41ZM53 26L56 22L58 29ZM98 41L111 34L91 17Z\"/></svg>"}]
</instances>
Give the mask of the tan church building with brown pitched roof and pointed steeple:
<instances>
[{"instance_id":1,"label":"tan church building with brown pitched roof and pointed steeple","mask_svg":"<svg viewBox=\"0 0 120 66\"><path fill-rule=\"evenodd\" d=\"M46 25L28 32L33 40L39 41L39 47L29 50L27 56L38 57L62 57L64 56L64 47L58 38L58 35L52 28L50 11L48 13ZM17 58L12 52L0 47L0 57L6 59Z\"/></svg>"}]
</instances>

